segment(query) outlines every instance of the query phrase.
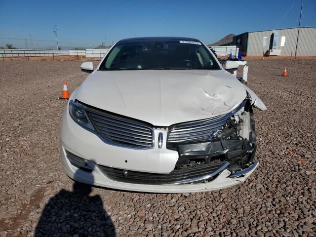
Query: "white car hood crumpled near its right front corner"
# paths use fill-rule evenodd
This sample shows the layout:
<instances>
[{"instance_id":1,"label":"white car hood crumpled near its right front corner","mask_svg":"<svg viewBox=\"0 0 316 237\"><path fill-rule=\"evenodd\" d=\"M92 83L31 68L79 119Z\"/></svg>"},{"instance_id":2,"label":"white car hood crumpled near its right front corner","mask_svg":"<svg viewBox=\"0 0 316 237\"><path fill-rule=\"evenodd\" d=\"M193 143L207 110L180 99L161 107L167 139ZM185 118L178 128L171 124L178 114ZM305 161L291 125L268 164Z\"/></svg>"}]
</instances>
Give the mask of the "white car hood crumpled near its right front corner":
<instances>
[{"instance_id":1,"label":"white car hood crumpled near its right front corner","mask_svg":"<svg viewBox=\"0 0 316 237\"><path fill-rule=\"evenodd\" d=\"M246 87L224 70L94 71L74 99L154 126L170 126L226 114L246 95Z\"/></svg>"}]
</instances>

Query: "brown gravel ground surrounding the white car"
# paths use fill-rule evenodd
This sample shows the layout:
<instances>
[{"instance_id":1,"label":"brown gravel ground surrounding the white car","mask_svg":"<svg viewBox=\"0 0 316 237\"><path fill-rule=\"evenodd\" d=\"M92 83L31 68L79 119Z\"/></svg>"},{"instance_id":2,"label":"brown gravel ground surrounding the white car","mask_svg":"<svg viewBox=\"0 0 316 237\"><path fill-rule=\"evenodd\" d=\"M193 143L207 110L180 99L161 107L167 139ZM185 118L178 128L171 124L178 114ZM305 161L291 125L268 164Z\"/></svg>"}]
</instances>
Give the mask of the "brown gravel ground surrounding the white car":
<instances>
[{"instance_id":1,"label":"brown gravel ground surrounding the white car","mask_svg":"<svg viewBox=\"0 0 316 237\"><path fill-rule=\"evenodd\" d=\"M143 194L75 184L59 125L80 62L0 62L0 237L316 236L316 60L249 61L258 169L241 185ZM279 75L287 66L289 77ZM54 235L52 235L54 233Z\"/></svg>"}]
</instances>

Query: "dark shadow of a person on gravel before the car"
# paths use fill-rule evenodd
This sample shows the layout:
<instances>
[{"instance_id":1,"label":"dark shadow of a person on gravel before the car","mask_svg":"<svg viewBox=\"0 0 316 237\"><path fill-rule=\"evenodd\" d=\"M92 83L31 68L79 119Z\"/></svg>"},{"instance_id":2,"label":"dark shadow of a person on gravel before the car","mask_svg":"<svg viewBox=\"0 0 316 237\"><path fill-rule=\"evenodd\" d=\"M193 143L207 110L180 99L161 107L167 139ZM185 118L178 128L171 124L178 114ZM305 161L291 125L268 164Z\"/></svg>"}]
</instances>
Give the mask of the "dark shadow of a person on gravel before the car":
<instances>
[{"instance_id":1,"label":"dark shadow of a person on gravel before the car","mask_svg":"<svg viewBox=\"0 0 316 237\"><path fill-rule=\"evenodd\" d=\"M91 191L91 185L75 182L72 192L63 189L51 197L41 213L35 237L115 237L101 197L89 196Z\"/></svg>"}]
</instances>

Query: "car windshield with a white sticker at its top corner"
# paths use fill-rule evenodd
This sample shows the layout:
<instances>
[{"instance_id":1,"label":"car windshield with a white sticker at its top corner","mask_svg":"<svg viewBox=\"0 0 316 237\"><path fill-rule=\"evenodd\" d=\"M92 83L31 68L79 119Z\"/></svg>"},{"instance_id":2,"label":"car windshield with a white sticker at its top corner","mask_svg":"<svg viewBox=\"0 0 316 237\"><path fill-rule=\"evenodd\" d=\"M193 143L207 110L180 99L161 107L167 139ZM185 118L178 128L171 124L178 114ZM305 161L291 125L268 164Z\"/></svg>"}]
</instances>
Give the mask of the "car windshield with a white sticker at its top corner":
<instances>
[{"instance_id":1,"label":"car windshield with a white sticker at its top corner","mask_svg":"<svg viewBox=\"0 0 316 237\"><path fill-rule=\"evenodd\" d=\"M118 42L99 70L218 70L219 65L199 41L129 40Z\"/></svg>"}]
</instances>

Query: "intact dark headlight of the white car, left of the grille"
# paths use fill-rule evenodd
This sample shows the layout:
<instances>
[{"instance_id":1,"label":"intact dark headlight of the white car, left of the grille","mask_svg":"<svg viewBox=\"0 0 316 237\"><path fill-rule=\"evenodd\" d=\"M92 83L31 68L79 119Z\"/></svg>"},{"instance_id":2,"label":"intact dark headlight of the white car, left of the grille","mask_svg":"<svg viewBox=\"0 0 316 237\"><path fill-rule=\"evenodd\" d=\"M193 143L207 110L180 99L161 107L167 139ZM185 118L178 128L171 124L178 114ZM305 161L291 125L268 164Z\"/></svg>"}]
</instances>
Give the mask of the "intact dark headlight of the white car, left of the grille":
<instances>
[{"instance_id":1,"label":"intact dark headlight of the white car, left of the grille","mask_svg":"<svg viewBox=\"0 0 316 237\"><path fill-rule=\"evenodd\" d=\"M84 111L84 105L74 102L71 100L69 102L69 114L70 117L74 119L79 125L87 128L89 130L94 130L94 127Z\"/></svg>"}]
</instances>

